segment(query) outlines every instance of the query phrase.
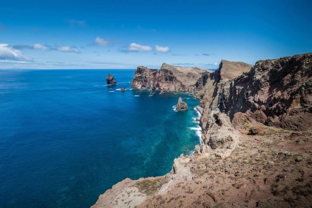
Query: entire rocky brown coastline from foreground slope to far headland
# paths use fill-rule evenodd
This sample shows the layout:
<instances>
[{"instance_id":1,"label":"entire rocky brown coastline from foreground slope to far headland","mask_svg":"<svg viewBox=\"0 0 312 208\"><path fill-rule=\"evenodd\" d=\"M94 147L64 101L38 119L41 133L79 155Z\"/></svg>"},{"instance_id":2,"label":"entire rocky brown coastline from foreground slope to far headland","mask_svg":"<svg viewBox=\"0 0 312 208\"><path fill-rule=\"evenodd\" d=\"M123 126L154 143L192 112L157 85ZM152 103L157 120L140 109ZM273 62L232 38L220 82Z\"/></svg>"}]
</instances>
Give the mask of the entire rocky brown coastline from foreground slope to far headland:
<instances>
[{"instance_id":1,"label":"entire rocky brown coastline from foreground slope to far headland","mask_svg":"<svg viewBox=\"0 0 312 208\"><path fill-rule=\"evenodd\" d=\"M312 53L222 60L215 72L139 66L132 88L151 83L202 99L201 146L164 176L117 183L93 207L312 206Z\"/></svg>"}]
</instances>

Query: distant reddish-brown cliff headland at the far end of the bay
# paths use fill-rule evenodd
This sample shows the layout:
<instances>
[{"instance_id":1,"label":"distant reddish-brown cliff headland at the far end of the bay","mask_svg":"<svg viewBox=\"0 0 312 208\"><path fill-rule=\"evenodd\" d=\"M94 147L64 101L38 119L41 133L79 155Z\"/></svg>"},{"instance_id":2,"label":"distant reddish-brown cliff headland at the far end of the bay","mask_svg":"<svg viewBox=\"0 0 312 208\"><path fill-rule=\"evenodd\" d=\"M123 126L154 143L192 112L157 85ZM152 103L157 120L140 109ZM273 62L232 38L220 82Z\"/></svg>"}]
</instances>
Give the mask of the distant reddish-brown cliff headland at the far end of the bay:
<instances>
[{"instance_id":1,"label":"distant reddish-brown cliff headland at the far end of the bay","mask_svg":"<svg viewBox=\"0 0 312 208\"><path fill-rule=\"evenodd\" d=\"M160 70L139 66L134 72L131 87L134 89L149 89L154 84L161 91L182 91L196 93L206 82L206 77L212 73L194 67L173 66L163 63Z\"/></svg>"}]
</instances>

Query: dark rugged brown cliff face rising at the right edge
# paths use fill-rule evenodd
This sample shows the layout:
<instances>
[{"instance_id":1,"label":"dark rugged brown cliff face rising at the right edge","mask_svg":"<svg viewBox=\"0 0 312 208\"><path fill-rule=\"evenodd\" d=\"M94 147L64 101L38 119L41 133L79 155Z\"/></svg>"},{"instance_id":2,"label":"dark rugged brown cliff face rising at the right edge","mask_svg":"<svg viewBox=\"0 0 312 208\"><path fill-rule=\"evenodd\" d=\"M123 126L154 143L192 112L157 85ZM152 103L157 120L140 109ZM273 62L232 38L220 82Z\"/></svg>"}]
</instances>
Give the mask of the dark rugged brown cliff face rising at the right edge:
<instances>
[{"instance_id":1,"label":"dark rugged brown cliff face rising at the right edge","mask_svg":"<svg viewBox=\"0 0 312 208\"><path fill-rule=\"evenodd\" d=\"M311 53L260 60L250 72L222 83L209 109L219 108L231 119L248 112L269 126L306 130L312 126L311 75Z\"/></svg>"}]
</instances>

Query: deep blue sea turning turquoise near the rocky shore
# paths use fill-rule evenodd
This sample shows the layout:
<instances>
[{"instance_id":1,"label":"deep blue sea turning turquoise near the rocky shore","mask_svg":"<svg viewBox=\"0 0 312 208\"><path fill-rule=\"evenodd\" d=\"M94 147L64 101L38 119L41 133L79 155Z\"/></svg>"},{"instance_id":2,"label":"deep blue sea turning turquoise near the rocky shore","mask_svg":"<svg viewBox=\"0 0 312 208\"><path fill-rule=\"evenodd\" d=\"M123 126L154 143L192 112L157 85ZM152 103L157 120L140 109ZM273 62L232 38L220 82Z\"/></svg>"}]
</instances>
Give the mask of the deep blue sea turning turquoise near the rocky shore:
<instances>
[{"instance_id":1,"label":"deep blue sea turning turquoise near the rocky shore","mask_svg":"<svg viewBox=\"0 0 312 208\"><path fill-rule=\"evenodd\" d=\"M103 86L108 73L118 85ZM164 175L190 154L199 100L130 90L133 74L0 70L0 207L90 207L124 178ZM188 112L173 110L180 96Z\"/></svg>"}]
</instances>

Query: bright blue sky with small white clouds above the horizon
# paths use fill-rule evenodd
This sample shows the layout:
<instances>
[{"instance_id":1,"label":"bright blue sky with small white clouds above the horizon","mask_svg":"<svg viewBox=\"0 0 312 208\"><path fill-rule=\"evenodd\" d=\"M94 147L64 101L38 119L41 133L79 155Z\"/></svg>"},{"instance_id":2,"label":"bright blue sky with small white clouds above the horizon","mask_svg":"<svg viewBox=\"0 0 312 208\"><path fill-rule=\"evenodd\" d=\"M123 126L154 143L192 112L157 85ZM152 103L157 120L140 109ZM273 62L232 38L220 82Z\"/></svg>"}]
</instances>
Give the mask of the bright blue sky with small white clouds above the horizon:
<instances>
[{"instance_id":1,"label":"bright blue sky with small white clouds above the horizon","mask_svg":"<svg viewBox=\"0 0 312 208\"><path fill-rule=\"evenodd\" d=\"M312 1L3 1L0 68L134 69L312 52Z\"/></svg>"}]
</instances>

